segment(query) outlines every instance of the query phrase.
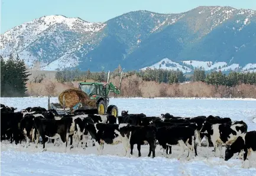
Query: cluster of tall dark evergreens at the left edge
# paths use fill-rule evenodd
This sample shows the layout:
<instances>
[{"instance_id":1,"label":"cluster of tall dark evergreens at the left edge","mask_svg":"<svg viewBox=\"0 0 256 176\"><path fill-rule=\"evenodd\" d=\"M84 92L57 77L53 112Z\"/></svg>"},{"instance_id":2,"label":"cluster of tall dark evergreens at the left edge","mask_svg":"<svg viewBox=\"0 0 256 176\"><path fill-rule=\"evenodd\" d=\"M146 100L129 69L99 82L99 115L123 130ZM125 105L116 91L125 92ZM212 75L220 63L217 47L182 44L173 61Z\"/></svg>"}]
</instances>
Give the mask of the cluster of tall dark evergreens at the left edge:
<instances>
[{"instance_id":1,"label":"cluster of tall dark evergreens at the left edge","mask_svg":"<svg viewBox=\"0 0 256 176\"><path fill-rule=\"evenodd\" d=\"M11 54L6 61L1 56L1 97L25 96L30 75L18 55L14 58Z\"/></svg>"}]
</instances>

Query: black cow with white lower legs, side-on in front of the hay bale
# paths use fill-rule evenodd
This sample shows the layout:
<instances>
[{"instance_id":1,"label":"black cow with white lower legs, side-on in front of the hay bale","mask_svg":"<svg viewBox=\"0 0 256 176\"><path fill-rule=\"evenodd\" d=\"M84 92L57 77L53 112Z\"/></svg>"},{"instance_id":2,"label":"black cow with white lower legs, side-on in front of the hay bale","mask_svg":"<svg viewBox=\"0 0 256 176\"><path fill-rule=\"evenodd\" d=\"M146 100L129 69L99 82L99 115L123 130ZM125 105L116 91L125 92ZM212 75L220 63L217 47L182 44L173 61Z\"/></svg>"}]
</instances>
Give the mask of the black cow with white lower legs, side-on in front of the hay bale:
<instances>
[{"instance_id":1,"label":"black cow with white lower legs, side-on in front of the hay bale","mask_svg":"<svg viewBox=\"0 0 256 176\"><path fill-rule=\"evenodd\" d=\"M43 139L43 148L45 148L45 137L51 139L60 138L63 144L66 144L64 151L67 149L67 141L69 140L69 130L72 125L72 118L61 118L60 120L34 118L35 128Z\"/></svg>"}]
</instances>

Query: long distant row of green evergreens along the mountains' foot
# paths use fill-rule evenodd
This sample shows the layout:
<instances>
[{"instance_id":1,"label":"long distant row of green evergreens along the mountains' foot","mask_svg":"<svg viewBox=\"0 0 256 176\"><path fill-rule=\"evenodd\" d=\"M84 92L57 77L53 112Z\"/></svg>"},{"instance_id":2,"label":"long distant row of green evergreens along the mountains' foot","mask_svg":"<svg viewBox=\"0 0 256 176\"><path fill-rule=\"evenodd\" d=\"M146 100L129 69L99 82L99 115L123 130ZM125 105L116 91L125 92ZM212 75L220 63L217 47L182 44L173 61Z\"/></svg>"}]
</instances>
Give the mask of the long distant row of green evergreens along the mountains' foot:
<instances>
[{"instance_id":1,"label":"long distant row of green evergreens along the mountains' foot","mask_svg":"<svg viewBox=\"0 0 256 176\"><path fill-rule=\"evenodd\" d=\"M119 76L121 73L121 66L111 72L111 77ZM205 82L215 86L236 86L241 83L256 84L256 73L238 73L231 71L229 74L223 74L221 71L212 71L211 73L205 73L205 70L195 69L191 77L184 76L182 71L179 70L164 70L164 69L146 69L140 71L127 71L123 77L132 76L136 74L145 81L154 81L158 83L183 83L186 81L191 82ZM79 71L79 70L63 70L57 71L56 79L58 82L72 82L83 81L92 79L96 82L106 82L108 72L91 72Z\"/></svg>"}]
</instances>

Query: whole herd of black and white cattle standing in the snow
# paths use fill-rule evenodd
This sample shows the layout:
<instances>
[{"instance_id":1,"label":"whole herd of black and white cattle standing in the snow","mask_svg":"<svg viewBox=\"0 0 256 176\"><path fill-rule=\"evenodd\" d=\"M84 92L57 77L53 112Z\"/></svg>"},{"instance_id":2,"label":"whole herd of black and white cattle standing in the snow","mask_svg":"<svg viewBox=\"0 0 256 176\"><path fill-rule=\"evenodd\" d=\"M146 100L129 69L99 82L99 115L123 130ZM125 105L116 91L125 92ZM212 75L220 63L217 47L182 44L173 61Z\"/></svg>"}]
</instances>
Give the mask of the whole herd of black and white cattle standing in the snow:
<instances>
[{"instance_id":1,"label":"whole herd of black and white cattle standing in the snow","mask_svg":"<svg viewBox=\"0 0 256 176\"><path fill-rule=\"evenodd\" d=\"M230 118L212 115L182 118L169 113L149 117L143 113L128 114L128 111L122 111L121 116L115 118L97 115L90 109L78 109L64 115L43 107L27 107L14 112L16 109L1 104L1 141L14 141L15 144L25 141L27 147L33 142L37 147L41 136L44 150L47 141L57 145L59 139L66 152L69 140L70 149L74 147L73 142L76 147L85 149L88 140L92 140L99 154L104 144L122 143L125 156L132 155L134 144L137 144L138 157L141 157L141 145L149 145L148 157L153 153L154 158L156 145L166 149L166 155L171 154L171 146L179 145L178 158L187 148L187 159L190 159L193 153L197 156L197 146L201 146L205 138L206 145L214 147L215 157L217 148L225 161L237 153L243 157L242 167L245 167L245 160L249 160L250 167L251 153L256 151L256 131L247 131L243 120L232 122ZM222 146L226 146L225 157Z\"/></svg>"}]
</instances>

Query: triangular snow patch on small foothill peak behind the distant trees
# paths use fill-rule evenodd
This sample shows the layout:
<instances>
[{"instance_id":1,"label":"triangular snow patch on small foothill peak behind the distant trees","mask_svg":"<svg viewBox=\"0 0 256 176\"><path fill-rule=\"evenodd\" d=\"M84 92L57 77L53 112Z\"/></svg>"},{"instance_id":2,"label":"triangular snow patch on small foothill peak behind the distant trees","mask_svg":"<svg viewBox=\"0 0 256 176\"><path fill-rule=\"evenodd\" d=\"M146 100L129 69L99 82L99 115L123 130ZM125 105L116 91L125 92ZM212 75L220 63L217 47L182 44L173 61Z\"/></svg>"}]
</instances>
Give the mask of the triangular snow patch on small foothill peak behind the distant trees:
<instances>
[{"instance_id":1,"label":"triangular snow patch on small foothill peak behind the distant trees","mask_svg":"<svg viewBox=\"0 0 256 176\"><path fill-rule=\"evenodd\" d=\"M166 64L174 64L174 66L166 66ZM159 67L160 65L161 65L161 67ZM184 67L187 70L183 69L182 67ZM158 61L158 63L155 63L155 64L153 64L152 66L149 66L149 67L144 67L141 70L146 70L147 68L150 68L150 69L167 69L167 70L177 70L177 69L179 69L183 73L191 71L191 69L189 69L188 67L182 66L179 63L173 62L168 58L163 58L161 61Z\"/></svg>"}]
</instances>

